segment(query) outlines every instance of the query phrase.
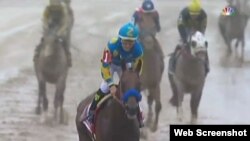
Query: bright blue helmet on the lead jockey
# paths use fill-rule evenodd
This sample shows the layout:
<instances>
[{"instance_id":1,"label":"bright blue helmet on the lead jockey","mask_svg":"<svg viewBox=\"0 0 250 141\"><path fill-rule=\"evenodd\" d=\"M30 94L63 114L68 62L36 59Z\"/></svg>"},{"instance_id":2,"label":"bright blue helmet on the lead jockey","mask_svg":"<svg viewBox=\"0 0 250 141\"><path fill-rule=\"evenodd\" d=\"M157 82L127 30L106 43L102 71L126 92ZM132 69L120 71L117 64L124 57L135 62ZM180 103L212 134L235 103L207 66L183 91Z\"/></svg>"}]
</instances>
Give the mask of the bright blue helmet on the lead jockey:
<instances>
[{"instance_id":1,"label":"bright blue helmet on the lead jockey","mask_svg":"<svg viewBox=\"0 0 250 141\"><path fill-rule=\"evenodd\" d=\"M124 24L119 30L119 37L125 40L136 40L139 36L139 29L136 25L129 22Z\"/></svg>"}]
</instances>

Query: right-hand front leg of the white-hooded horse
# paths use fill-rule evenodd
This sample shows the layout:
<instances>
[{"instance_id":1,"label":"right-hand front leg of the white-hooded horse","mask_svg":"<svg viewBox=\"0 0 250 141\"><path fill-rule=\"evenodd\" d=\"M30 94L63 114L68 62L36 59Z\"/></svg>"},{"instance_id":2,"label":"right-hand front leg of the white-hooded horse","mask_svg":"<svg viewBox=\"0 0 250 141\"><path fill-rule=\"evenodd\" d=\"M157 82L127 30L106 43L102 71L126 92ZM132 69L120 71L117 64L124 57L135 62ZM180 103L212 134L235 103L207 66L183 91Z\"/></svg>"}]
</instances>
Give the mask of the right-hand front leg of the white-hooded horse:
<instances>
[{"instance_id":1,"label":"right-hand front leg of the white-hooded horse","mask_svg":"<svg viewBox=\"0 0 250 141\"><path fill-rule=\"evenodd\" d=\"M200 99L201 99L202 92L197 91L192 93L191 96L191 101L190 101L190 106L191 106L191 123L196 123L197 117L198 117L198 107L200 104Z\"/></svg>"}]
</instances>

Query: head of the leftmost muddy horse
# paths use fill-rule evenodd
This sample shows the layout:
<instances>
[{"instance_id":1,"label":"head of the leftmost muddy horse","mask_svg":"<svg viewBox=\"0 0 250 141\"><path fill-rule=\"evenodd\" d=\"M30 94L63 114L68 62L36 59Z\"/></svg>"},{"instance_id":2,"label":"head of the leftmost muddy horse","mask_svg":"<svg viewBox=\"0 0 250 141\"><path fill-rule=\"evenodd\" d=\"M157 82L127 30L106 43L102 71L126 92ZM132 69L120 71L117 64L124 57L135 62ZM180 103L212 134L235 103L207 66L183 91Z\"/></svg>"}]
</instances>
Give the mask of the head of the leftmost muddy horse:
<instances>
[{"instance_id":1,"label":"head of the leftmost muddy horse","mask_svg":"<svg viewBox=\"0 0 250 141\"><path fill-rule=\"evenodd\" d=\"M57 52L57 48L60 45L60 40L55 34L54 30L49 30L43 34L43 45L45 56L52 56Z\"/></svg>"}]
</instances>

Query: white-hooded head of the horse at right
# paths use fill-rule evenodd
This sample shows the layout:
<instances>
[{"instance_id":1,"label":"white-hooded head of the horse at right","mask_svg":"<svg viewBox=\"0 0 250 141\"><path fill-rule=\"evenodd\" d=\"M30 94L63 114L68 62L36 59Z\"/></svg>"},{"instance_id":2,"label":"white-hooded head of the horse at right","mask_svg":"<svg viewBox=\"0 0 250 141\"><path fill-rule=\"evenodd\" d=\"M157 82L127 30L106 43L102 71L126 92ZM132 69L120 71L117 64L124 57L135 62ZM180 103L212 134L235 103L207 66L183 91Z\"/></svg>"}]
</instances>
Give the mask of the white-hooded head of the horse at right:
<instances>
[{"instance_id":1,"label":"white-hooded head of the horse at right","mask_svg":"<svg viewBox=\"0 0 250 141\"><path fill-rule=\"evenodd\" d=\"M190 38L189 47L193 57L206 60L208 42L204 34L199 31L194 32Z\"/></svg>"}]
</instances>

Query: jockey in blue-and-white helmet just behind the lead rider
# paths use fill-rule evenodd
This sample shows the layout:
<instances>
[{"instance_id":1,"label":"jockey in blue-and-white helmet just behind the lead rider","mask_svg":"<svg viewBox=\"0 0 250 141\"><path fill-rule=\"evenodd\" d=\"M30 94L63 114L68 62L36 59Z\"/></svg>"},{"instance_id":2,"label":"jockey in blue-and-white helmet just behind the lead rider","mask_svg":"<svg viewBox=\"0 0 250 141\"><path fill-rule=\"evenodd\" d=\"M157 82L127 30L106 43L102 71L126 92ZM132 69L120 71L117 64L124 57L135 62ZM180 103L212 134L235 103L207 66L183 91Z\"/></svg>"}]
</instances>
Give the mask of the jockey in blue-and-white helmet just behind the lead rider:
<instances>
[{"instance_id":1,"label":"jockey in blue-and-white helmet just behind the lead rider","mask_svg":"<svg viewBox=\"0 0 250 141\"><path fill-rule=\"evenodd\" d=\"M159 13L151 0L143 1L142 6L135 10L132 20L138 25L140 34L150 33L155 36L161 30Z\"/></svg>"}]
</instances>

